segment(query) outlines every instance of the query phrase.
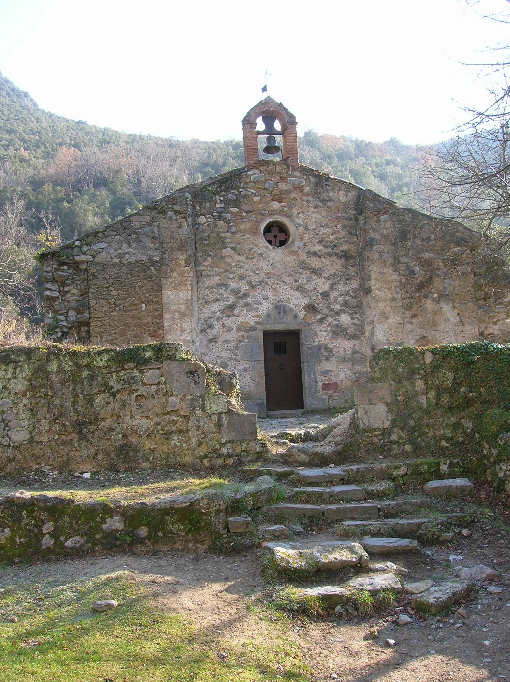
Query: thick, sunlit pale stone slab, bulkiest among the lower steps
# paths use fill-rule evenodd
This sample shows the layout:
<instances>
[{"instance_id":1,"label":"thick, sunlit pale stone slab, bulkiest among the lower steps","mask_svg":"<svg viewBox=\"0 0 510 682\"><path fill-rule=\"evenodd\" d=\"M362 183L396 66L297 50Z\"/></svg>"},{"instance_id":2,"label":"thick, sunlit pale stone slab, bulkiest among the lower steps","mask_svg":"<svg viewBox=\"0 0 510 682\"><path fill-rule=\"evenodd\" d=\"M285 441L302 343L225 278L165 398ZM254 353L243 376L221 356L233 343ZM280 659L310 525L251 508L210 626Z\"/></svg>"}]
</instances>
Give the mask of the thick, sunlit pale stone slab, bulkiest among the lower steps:
<instances>
[{"instance_id":1,"label":"thick, sunlit pale stone slab, bulkiest among the lower steps","mask_svg":"<svg viewBox=\"0 0 510 682\"><path fill-rule=\"evenodd\" d=\"M315 573L338 570L346 566L366 566L370 563L368 554L357 542L335 543L331 547L320 546L310 549L292 549L271 543L264 549L269 549L273 566L281 572Z\"/></svg>"}]
</instances>

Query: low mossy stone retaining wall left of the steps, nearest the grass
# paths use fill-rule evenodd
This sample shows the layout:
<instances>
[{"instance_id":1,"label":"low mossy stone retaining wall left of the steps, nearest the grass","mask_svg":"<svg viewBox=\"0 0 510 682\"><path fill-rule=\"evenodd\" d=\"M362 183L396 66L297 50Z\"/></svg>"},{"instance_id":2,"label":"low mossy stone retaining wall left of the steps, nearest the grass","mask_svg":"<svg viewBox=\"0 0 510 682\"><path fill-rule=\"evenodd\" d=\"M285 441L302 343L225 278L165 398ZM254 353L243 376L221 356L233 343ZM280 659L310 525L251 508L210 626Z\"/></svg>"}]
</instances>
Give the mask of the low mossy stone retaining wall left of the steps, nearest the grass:
<instances>
[{"instance_id":1,"label":"low mossy stone retaining wall left of the steps, nearest the grass","mask_svg":"<svg viewBox=\"0 0 510 682\"><path fill-rule=\"evenodd\" d=\"M151 552L228 542L228 516L252 514L276 500L269 476L200 494L125 503L18 490L0 499L0 561L108 550ZM252 524L250 524L252 525ZM230 535L233 537L233 535Z\"/></svg>"}]
</instances>

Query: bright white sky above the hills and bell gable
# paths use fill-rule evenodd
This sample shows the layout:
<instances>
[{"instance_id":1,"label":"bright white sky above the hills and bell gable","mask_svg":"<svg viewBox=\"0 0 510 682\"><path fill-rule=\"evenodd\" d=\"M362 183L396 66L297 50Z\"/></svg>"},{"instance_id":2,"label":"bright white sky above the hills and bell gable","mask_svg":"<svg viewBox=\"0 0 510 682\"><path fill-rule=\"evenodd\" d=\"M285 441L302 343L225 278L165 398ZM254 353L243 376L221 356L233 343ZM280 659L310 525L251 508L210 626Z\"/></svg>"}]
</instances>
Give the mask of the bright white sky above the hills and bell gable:
<instances>
[{"instance_id":1,"label":"bright white sky above the hills and bell gable","mask_svg":"<svg viewBox=\"0 0 510 682\"><path fill-rule=\"evenodd\" d=\"M507 40L505 0L0 0L0 72L59 115L241 138L261 87L306 129L434 143L482 106L466 63ZM478 12L476 10L479 10Z\"/></svg>"}]
</instances>

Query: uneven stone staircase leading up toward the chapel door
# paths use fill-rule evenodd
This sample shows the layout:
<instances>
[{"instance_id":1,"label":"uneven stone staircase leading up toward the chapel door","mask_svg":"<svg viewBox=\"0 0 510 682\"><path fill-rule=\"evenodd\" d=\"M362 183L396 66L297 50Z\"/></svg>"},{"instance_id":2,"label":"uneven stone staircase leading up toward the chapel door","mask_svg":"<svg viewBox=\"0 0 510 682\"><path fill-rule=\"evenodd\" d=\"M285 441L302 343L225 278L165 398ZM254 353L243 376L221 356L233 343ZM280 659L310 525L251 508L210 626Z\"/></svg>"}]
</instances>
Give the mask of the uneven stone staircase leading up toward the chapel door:
<instances>
[{"instance_id":1,"label":"uneven stone staircase leading up toward the chapel door","mask_svg":"<svg viewBox=\"0 0 510 682\"><path fill-rule=\"evenodd\" d=\"M245 467L245 477L270 475L280 484L280 501L263 507L258 519L267 580L295 584L328 608L341 608L359 591L408 591L423 612L440 612L462 599L470 589L464 580L425 580L419 593L406 589L402 564L413 556L414 565L423 559L425 569L422 539L447 542L472 520L459 510L459 498L474 486L466 478L447 478L449 469L434 459ZM313 586L304 587L306 582Z\"/></svg>"}]
</instances>

